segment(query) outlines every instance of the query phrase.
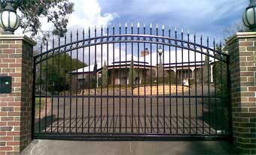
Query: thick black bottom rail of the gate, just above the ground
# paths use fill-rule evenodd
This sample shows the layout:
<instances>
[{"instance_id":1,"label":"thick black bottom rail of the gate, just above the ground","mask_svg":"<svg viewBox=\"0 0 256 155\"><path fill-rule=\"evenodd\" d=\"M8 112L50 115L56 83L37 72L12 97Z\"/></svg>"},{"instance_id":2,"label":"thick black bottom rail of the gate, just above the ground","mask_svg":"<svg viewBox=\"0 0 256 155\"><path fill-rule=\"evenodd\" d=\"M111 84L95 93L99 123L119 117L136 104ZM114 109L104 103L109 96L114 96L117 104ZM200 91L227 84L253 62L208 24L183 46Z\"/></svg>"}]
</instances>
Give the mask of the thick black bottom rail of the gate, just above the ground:
<instances>
[{"instance_id":1,"label":"thick black bottom rail of the gate, just above the ground","mask_svg":"<svg viewBox=\"0 0 256 155\"><path fill-rule=\"evenodd\" d=\"M105 133L34 133L35 139L53 139L53 140L76 140L76 141L138 141L138 140L147 140L147 141L217 141L225 140L230 141L230 135L177 135L177 134L105 134Z\"/></svg>"}]
</instances>

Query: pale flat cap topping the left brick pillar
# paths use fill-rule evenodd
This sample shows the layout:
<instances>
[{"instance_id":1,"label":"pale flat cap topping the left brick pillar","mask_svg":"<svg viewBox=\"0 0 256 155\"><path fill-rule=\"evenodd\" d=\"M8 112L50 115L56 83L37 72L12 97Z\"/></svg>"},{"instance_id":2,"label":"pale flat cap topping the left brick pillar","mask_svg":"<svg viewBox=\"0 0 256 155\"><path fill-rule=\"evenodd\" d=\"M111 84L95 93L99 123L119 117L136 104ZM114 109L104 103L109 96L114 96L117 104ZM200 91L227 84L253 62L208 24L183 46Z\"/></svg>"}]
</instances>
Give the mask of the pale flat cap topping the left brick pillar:
<instances>
[{"instance_id":1,"label":"pale flat cap topping the left brick pillar","mask_svg":"<svg viewBox=\"0 0 256 155\"><path fill-rule=\"evenodd\" d=\"M35 46L37 43L31 37L26 36L25 34L1 34L0 40L24 40L26 43Z\"/></svg>"}]
</instances>

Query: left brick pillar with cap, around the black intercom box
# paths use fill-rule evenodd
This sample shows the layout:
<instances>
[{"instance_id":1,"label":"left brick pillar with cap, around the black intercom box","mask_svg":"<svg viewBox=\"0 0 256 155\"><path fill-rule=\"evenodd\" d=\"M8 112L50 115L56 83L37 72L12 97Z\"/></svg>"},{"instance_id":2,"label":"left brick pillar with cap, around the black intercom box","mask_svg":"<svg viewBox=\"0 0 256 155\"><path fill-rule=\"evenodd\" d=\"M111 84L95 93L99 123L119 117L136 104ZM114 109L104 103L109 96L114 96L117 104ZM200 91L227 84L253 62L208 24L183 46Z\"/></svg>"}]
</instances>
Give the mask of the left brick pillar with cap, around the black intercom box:
<instances>
[{"instance_id":1,"label":"left brick pillar with cap, around the black intercom box","mask_svg":"<svg viewBox=\"0 0 256 155\"><path fill-rule=\"evenodd\" d=\"M31 142L33 46L25 35L0 35L0 76L12 77L12 93L0 94L0 155Z\"/></svg>"}]
</instances>

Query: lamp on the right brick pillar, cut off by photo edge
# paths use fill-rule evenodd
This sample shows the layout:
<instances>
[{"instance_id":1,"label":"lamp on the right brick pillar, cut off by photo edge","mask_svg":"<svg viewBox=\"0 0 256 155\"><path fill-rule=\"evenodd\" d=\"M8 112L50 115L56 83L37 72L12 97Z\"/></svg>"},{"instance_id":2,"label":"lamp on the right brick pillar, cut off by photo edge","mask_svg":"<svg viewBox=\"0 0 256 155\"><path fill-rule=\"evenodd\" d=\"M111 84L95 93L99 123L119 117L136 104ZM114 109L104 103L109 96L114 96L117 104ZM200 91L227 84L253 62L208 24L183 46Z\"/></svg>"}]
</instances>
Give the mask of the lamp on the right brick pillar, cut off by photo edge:
<instances>
[{"instance_id":1,"label":"lamp on the right brick pillar, cut off by photo edge","mask_svg":"<svg viewBox=\"0 0 256 155\"><path fill-rule=\"evenodd\" d=\"M242 14L242 21L251 31L256 31L256 0L250 0L249 6Z\"/></svg>"}]
</instances>

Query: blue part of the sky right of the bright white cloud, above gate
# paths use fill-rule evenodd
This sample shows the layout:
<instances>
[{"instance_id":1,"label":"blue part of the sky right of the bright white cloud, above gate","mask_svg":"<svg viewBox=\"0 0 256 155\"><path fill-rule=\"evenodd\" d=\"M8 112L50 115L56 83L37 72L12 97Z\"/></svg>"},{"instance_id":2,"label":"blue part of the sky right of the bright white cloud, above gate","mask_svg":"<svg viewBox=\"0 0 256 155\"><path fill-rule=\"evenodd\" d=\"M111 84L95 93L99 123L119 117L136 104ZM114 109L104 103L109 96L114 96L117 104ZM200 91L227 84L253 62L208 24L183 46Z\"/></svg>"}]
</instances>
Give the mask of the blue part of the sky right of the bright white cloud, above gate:
<instances>
[{"instance_id":1,"label":"blue part of the sky right of the bright white cloud, above gate","mask_svg":"<svg viewBox=\"0 0 256 155\"><path fill-rule=\"evenodd\" d=\"M101 13L114 13L110 22L141 22L189 29L221 39L224 29L242 22L245 0L98 0Z\"/></svg>"}]
</instances>

